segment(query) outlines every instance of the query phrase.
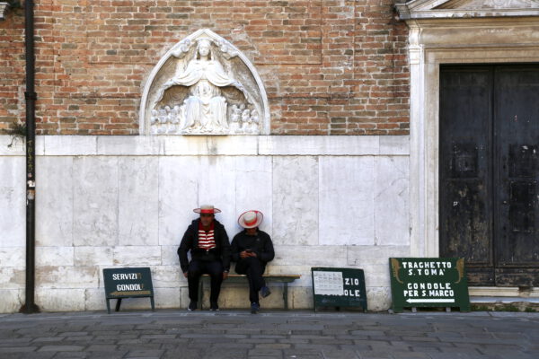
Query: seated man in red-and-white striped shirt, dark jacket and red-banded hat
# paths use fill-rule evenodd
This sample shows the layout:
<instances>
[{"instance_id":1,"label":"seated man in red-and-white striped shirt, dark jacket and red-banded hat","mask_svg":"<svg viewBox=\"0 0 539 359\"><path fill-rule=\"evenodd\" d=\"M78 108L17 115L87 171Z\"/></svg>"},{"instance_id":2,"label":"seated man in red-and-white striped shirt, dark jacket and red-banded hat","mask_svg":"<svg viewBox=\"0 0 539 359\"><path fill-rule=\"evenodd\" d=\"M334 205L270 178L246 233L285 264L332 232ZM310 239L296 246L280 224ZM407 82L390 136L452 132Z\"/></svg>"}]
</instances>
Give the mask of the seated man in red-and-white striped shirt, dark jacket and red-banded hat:
<instances>
[{"instance_id":1,"label":"seated man in red-and-white striped shirt, dark jacket and red-banded hat","mask_svg":"<svg viewBox=\"0 0 539 359\"><path fill-rule=\"evenodd\" d=\"M189 285L188 311L197 309L199 280L203 274L211 277L210 310L218 311L217 300L221 283L230 269L230 242L225 227L215 219L215 214L221 212L219 209L214 206L200 206L193 212L200 214L200 217L190 223L178 248L181 271ZM190 261L187 257L189 251Z\"/></svg>"}]
</instances>

